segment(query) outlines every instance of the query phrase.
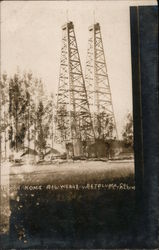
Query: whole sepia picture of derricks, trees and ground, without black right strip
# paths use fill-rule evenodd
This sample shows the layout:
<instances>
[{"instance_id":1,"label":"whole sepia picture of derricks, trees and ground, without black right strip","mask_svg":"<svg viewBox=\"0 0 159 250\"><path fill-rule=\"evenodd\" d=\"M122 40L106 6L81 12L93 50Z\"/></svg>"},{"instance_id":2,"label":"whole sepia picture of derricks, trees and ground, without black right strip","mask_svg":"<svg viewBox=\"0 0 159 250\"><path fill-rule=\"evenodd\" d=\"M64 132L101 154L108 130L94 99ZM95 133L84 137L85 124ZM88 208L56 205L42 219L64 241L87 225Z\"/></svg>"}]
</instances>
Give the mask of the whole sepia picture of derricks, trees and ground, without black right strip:
<instances>
[{"instance_id":1,"label":"whole sepia picture of derricks, trees and ground, without black right strip","mask_svg":"<svg viewBox=\"0 0 159 250\"><path fill-rule=\"evenodd\" d=\"M157 2L0 4L2 248L139 246L130 7Z\"/></svg>"}]
</instances>

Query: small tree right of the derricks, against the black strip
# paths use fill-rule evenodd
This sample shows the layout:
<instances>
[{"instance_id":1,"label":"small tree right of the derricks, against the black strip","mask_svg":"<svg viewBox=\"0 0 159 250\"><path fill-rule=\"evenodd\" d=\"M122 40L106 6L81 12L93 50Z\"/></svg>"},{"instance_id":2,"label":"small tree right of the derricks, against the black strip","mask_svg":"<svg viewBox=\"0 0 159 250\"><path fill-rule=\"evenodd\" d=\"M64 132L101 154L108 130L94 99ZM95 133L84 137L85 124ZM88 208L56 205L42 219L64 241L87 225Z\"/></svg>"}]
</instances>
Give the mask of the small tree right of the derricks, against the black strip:
<instances>
[{"instance_id":1,"label":"small tree right of the derricks, against the black strip","mask_svg":"<svg viewBox=\"0 0 159 250\"><path fill-rule=\"evenodd\" d=\"M133 146L133 118L131 113L128 113L126 116L122 137L127 146Z\"/></svg>"}]
</instances>

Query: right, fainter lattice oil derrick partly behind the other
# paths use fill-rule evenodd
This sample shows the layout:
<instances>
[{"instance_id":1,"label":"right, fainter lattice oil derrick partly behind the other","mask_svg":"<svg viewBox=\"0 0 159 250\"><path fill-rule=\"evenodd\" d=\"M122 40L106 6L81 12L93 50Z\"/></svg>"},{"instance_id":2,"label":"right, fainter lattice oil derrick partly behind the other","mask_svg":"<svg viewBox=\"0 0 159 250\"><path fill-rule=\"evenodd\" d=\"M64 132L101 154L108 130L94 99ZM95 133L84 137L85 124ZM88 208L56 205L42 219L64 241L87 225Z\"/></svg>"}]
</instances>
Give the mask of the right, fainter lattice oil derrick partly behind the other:
<instances>
[{"instance_id":1,"label":"right, fainter lattice oil derrick partly behind the other","mask_svg":"<svg viewBox=\"0 0 159 250\"><path fill-rule=\"evenodd\" d=\"M99 23L89 27L85 83L95 137L118 138Z\"/></svg>"}]
</instances>

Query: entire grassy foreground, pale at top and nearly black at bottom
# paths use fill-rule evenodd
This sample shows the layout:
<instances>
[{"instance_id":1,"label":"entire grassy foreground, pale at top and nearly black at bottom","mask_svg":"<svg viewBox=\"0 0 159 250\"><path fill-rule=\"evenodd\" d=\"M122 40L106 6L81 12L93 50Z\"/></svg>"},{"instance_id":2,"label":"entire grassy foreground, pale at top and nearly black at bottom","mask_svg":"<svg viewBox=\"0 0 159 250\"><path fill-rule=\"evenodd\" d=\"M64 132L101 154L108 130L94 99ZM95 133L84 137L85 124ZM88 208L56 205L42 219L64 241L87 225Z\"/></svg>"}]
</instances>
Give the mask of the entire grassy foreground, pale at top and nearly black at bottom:
<instances>
[{"instance_id":1,"label":"entire grassy foreground, pale at top and nearly black at bottom","mask_svg":"<svg viewBox=\"0 0 159 250\"><path fill-rule=\"evenodd\" d=\"M93 189L82 188L88 184L93 184ZM103 188L95 184L103 184ZM61 189L60 185L68 186ZM11 167L10 247L92 249L133 245L134 195L133 162Z\"/></svg>"}]
</instances>

